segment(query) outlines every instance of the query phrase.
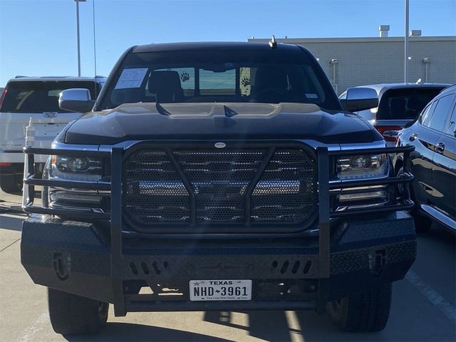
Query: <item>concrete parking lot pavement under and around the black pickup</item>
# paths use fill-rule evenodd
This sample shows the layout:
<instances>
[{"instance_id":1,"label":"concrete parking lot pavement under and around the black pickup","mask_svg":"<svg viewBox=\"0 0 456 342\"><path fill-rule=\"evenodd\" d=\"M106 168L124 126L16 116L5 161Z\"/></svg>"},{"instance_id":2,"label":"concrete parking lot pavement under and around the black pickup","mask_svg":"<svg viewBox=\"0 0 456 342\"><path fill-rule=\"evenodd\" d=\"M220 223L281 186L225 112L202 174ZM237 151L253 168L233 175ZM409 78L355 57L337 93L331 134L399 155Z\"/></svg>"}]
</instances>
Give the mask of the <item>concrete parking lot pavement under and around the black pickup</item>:
<instances>
[{"instance_id":1,"label":"concrete parking lot pavement under and around the black pickup","mask_svg":"<svg viewBox=\"0 0 456 342\"><path fill-rule=\"evenodd\" d=\"M393 287L390 320L380 333L341 333L309 311L133 313L97 336L53 332L46 289L20 262L21 197L0 192L0 341L455 341L455 236L434 225L418 237L418 259ZM12 204L12 207L11 207ZM11 208L11 209L10 209Z\"/></svg>"}]
</instances>

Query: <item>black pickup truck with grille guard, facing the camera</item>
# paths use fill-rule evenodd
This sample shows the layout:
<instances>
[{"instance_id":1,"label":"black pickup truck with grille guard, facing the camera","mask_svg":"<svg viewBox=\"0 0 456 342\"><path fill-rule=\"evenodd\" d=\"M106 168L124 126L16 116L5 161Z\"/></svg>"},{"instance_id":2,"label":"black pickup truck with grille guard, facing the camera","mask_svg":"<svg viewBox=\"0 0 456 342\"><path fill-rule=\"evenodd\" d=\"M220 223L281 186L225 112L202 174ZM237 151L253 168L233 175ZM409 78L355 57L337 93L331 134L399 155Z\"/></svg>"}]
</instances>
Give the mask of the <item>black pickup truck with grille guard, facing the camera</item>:
<instances>
[{"instance_id":1,"label":"black pickup truck with grille guard, facing the camera","mask_svg":"<svg viewBox=\"0 0 456 342\"><path fill-rule=\"evenodd\" d=\"M385 327L416 254L413 147L385 147L348 111L378 105L368 89L339 101L301 46L165 43L129 48L96 101L70 89L59 103L89 112L51 149L24 147L21 239L57 333L98 331L109 304L115 316L312 309L343 331Z\"/></svg>"}]
</instances>

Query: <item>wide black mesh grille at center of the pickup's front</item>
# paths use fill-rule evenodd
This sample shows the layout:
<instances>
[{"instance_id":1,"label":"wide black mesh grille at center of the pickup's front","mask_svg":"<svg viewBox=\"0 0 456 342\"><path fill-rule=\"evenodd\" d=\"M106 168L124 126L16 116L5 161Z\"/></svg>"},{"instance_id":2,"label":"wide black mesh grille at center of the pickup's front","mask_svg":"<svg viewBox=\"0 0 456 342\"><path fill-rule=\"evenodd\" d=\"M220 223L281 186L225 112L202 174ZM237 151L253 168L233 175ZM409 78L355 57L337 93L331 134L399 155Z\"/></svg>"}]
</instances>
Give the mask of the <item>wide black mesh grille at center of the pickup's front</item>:
<instances>
[{"instance_id":1,"label":"wide black mesh grille at center of the pickup's front","mask_svg":"<svg viewBox=\"0 0 456 342\"><path fill-rule=\"evenodd\" d=\"M305 222L316 209L314 160L303 150L277 149L264 165L267 155L267 149L186 149L171 157L163 150L138 150L125 164L125 214L151 228L189 227L192 216L198 225ZM185 184L195 197L194 213Z\"/></svg>"}]
</instances>

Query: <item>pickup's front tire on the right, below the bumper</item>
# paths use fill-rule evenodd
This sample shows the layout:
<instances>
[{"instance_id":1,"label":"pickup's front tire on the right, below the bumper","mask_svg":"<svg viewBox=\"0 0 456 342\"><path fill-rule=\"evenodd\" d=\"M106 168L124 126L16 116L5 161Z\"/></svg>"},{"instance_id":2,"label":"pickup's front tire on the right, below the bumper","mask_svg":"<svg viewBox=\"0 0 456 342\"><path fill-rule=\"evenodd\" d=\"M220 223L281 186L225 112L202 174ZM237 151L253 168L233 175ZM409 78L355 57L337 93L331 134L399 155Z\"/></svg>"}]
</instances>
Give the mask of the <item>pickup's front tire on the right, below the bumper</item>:
<instances>
[{"instance_id":1,"label":"pickup's front tire on the right, below the bumper","mask_svg":"<svg viewBox=\"0 0 456 342\"><path fill-rule=\"evenodd\" d=\"M341 331L381 331L390 316L391 284L373 287L328 304Z\"/></svg>"}]
</instances>

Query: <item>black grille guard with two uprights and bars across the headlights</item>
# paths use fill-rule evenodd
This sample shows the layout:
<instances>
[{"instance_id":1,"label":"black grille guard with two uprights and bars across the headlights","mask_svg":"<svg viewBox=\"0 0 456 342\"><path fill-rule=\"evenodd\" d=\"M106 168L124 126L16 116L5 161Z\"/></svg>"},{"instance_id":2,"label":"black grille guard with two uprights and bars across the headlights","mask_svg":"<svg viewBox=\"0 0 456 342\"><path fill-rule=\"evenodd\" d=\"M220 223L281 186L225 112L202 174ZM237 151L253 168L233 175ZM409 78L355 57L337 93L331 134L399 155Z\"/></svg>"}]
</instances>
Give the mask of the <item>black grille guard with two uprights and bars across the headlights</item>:
<instances>
[{"instance_id":1,"label":"black grille guard with two uprights and bars across the headlights","mask_svg":"<svg viewBox=\"0 0 456 342\"><path fill-rule=\"evenodd\" d=\"M155 142L138 142L125 149L120 145L115 145L110 151L87 151L87 150L64 150L64 149L46 149L35 147L24 147L26 153L26 176L24 177L24 200L23 210L26 213L51 214L62 217L78 218L81 220L88 219L110 219L110 239L111 239L111 276L113 278L113 289L115 298L116 316L125 316L125 301L123 294L123 279L121 274L121 261L123 255L122 238L123 238L123 162L124 155L130 148L140 148L143 145L154 145ZM182 146L182 142L175 142L175 146ZM230 142L231 144L231 142ZM245 142L237 142L239 146L247 146ZM157 142L157 145L164 145L163 142ZM195 142L194 146L214 146L214 142ZM302 142L258 142L250 143L250 146L256 147L298 147L309 150L309 146ZM363 150L337 150L328 151L327 147L316 148L316 161L318 165L318 227L319 227L319 252L318 252L318 278L326 279L330 275L330 219L336 217L353 217L359 214L373 214L378 212L395 212L400 210L410 210L413 208L413 201L410 198L410 182L413 182L413 175L410 173L410 152L415 147L384 147ZM110 182L86 182L70 180L43 180L34 177L34 155L66 155L80 157L81 152L87 157L110 157L111 162L111 181ZM375 155L375 154L397 154L403 153L404 174L403 177L389 177L380 180L342 180L340 182L331 182L331 160L346 155ZM259 177L256 177L258 180ZM400 194L402 198L397 204L387 204L381 207L347 209L342 212L331 210L330 190L348 189L353 187L367 187L374 185L403 185L403 191ZM105 212L87 212L73 209L56 209L44 208L33 205L35 197L35 186L48 187L66 187L76 189L89 189L111 192L110 196L110 213ZM253 186L253 185L252 185ZM249 234L250 233L250 234ZM187 237L190 234L187 234ZM202 237L207 234L192 234L192 237ZM219 234L220 237L227 237L230 234ZM233 234L231 234L233 235ZM263 234L266 235L266 234ZM272 234L277 236L277 234ZM169 235L168 235L169 236ZM178 235L182 237L181 235ZM247 231L240 236L260 237L261 234L252 234ZM271 234L269 234L271 236ZM323 301L321 301L323 302Z\"/></svg>"}]
</instances>

